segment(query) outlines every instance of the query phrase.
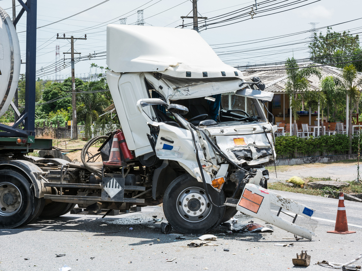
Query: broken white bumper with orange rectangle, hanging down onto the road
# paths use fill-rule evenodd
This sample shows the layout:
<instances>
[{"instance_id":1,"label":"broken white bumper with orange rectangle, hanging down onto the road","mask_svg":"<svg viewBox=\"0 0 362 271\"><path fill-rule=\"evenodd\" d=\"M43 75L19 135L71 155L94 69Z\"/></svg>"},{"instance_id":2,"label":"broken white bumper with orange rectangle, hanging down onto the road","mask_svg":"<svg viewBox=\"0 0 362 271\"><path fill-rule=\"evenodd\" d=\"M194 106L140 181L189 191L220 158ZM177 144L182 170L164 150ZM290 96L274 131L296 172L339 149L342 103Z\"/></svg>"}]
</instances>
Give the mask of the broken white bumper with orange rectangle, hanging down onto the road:
<instances>
[{"instance_id":1,"label":"broken white bumper with orange rectangle, hanging down onto the road","mask_svg":"<svg viewBox=\"0 0 362 271\"><path fill-rule=\"evenodd\" d=\"M229 205L228 201L226 205ZM313 231L315 230L317 222L311 219L312 214L315 212L314 209L282 197L255 184L248 183L245 185L236 209L241 213L269 222L278 228L306 239L312 240L312 235L316 236ZM289 212L283 212L282 209L286 209ZM292 222L279 217L281 213L292 217ZM297 217L299 219L297 219ZM300 223L298 223L298 221Z\"/></svg>"}]
</instances>

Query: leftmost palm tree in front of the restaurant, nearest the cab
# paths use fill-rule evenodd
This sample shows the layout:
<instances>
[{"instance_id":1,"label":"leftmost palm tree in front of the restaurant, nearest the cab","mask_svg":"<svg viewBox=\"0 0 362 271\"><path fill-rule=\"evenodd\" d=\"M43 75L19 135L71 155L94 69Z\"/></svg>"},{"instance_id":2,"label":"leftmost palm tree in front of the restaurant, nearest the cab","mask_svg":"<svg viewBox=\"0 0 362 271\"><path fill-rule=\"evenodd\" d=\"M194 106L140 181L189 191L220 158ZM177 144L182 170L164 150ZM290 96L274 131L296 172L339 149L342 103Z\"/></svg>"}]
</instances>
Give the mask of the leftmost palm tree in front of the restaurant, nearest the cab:
<instances>
[{"instance_id":1,"label":"leftmost palm tree in front of the restaurant, nearest the cab","mask_svg":"<svg viewBox=\"0 0 362 271\"><path fill-rule=\"evenodd\" d=\"M298 93L303 93L309 90L309 82L307 78L312 75L321 78L321 72L319 68L308 67L299 68L294 57L287 58L286 63L287 83L285 84L285 92L291 99L291 114L294 115L294 132L293 135L297 135L296 121L298 118L297 111L300 109L300 101L298 100Z\"/></svg>"}]
</instances>

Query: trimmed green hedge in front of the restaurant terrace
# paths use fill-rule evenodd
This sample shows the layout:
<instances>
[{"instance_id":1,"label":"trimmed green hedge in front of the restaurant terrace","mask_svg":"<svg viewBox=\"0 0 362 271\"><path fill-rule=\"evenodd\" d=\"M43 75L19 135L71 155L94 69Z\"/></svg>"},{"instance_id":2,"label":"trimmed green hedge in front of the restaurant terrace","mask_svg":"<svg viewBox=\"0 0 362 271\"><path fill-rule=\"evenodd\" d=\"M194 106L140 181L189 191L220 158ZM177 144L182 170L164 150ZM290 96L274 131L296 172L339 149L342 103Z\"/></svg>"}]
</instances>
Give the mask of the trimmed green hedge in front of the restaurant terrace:
<instances>
[{"instance_id":1,"label":"trimmed green hedge in front of the restaurant terrace","mask_svg":"<svg viewBox=\"0 0 362 271\"><path fill-rule=\"evenodd\" d=\"M362 149L362 136L360 138ZM349 139L346 134L321 135L319 137L280 136L275 138L277 158L310 157L347 154ZM352 153L358 153L358 135L352 138Z\"/></svg>"}]
</instances>

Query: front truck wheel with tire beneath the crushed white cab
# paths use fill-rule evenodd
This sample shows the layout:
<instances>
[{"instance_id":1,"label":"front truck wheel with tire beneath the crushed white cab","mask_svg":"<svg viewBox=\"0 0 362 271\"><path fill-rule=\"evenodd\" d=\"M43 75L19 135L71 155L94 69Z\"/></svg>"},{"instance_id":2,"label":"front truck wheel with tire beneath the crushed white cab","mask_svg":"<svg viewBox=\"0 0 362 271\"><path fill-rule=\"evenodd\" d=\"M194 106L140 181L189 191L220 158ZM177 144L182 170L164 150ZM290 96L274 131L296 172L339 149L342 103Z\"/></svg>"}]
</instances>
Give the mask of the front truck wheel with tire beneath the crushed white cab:
<instances>
[{"instance_id":1,"label":"front truck wheel with tire beneath the crushed white cab","mask_svg":"<svg viewBox=\"0 0 362 271\"><path fill-rule=\"evenodd\" d=\"M225 203L223 191L219 193L211 185L207 188L214 204L221 206ZM203 183L189 174L174 179L167 187L163 198L163 210L167 221L174 229L184 234L210 232L219 225L225 209L213 206L207 199Z\"/></svg>"}]
</instances>

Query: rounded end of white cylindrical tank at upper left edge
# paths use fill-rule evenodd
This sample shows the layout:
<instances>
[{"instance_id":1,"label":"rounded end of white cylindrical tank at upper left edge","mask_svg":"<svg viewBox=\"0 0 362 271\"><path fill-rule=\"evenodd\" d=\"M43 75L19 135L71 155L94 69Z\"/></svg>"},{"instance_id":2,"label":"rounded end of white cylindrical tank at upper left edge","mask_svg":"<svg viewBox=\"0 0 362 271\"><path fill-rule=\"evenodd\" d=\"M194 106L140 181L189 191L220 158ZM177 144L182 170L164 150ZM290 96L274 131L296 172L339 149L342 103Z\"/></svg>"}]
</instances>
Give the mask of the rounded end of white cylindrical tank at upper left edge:
<instances>
[{"instance_id":1,"label":"rounded end of white cylindrical tank at upper left edge","mask_svg":"<svg viewBox=\"0 0 362 271\"><path fill-rule=\"evenodd\" d=\"M18 86L20 45L8 13L0 7L0 116L8 110Z\"/></svg>"}]
</instances>

